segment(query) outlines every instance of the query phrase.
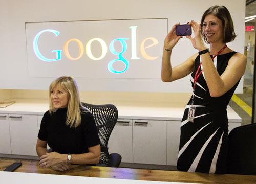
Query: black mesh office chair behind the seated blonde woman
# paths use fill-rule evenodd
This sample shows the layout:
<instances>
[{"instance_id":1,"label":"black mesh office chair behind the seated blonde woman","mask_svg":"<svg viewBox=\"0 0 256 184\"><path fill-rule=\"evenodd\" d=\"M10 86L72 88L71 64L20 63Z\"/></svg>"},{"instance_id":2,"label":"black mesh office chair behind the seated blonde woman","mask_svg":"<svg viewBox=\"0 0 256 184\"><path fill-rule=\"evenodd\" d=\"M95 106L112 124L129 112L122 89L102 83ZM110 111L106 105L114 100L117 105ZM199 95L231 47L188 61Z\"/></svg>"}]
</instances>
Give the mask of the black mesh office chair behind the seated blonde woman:
<instances>
[{"instance_id":1,"label":"black mesh office chair behind the seated blonde woman","mask_svg":"<svg viewBox=\"0 0 256 184\"><path fill-rule=\"evenodd\" d=\"M118 153L109 154L107 147L110 134L117 122L117 108L112 104L93 105L82 102L82 105L92 112L98 129L101 149L99 165L118 167L121 163L121 155Z\"/></svg>"}]
</instances>

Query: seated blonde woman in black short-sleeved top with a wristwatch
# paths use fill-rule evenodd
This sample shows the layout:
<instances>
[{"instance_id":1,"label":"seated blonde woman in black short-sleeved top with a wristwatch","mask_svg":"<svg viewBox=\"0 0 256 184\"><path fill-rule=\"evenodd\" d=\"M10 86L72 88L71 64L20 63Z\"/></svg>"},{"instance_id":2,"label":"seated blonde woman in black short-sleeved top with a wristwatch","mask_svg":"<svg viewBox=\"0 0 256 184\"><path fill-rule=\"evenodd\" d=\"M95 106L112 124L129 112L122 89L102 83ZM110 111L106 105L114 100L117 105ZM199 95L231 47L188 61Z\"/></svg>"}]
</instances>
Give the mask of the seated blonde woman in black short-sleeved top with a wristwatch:
<instances>
[{"instance_id":1,"label":"seated blonde woman in black short-sleeved top with a wristwatch","mask_svg":"<svg viewBox=\"0 0 256 184\"><path fill-rule=\"evenodd\" d=\"M81 105L74 78L62 76L49 87L50 107L36 144L40 167L66 171L70 164L96 164L100 142L91 112ZM47 150L47 144L53 152Z\"/></svg>"}]
</instances>

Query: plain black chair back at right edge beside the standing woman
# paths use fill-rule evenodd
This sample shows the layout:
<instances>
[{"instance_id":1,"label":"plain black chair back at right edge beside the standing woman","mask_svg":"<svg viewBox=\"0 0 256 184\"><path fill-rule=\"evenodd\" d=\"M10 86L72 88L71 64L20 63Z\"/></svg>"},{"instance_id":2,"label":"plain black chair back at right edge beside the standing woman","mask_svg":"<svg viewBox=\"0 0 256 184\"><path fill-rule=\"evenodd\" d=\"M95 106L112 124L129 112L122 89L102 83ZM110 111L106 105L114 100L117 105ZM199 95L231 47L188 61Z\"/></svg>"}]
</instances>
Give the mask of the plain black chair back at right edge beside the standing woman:
<instances>
[{"instance_id":1,"label":"plain black chair back at right edge beside the standing woman","mask_svg":"<svg viewBox=\"0 0 256 184\"><path fill-rule=\"evenodd\" d=\"M256 175L256 123L230 131L227 166L229 174Z\"/></svg>"}]
</instances>

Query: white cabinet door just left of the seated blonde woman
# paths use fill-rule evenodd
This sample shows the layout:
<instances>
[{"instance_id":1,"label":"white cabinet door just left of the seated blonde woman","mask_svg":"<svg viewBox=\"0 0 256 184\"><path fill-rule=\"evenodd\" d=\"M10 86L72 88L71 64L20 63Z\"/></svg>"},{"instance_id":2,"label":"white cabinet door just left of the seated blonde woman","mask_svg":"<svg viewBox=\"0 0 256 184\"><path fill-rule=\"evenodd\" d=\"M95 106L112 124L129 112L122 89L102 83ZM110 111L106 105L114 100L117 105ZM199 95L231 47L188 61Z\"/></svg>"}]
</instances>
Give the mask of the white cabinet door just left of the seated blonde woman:
<instances>
[{"instance_id":1,"label":"white cabinet door just left of the seated blonde woman","mask_svg":"<svg viewBox=\"0 0 256 184\"><path fill-rule=\"evenodd\" d=\"M9 114L12 154L37 156L37 116Z\"/></svg>"}]
</instances>

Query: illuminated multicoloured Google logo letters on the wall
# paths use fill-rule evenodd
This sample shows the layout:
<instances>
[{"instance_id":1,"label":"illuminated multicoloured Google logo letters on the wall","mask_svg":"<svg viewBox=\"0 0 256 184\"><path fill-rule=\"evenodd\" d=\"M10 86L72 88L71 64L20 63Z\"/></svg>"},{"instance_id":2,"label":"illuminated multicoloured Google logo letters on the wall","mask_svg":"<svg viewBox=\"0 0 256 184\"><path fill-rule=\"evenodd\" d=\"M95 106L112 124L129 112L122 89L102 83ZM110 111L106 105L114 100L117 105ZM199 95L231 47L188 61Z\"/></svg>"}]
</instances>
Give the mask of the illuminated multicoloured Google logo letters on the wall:
<instances>
[{"instance_id":1,"label":"illuminated multicoloured Google logo letters on the wall","mask_svg":"<svg viewBox=\"0 0 256 184\"><path fill-rule=\"evenodd\" d=\"M131 29L131 59L140 59L139 57L137 57L137 26L130 26L129 29ZM38 40L39 40L40 36L42 34L46 33L46 32L53 33L55 35L55 37L60 35L60 32L57 31L57 30L54 30L54 29L45 29L45 30L39 31L35 35L35 37L33 39L33 50L34 50L34 53L35 53L36 57L39 58L42 61L45 61L45 62L60 61L62 52L65 55L65 57L69 60L78 60L84 55L84 53L92 60L101 60L108 53L108 45L106 44L106 42L102 38L92 38L92 39L90 39L85 44L85 47L84 47L84 44L82 43L81 40L79 40L77 38L71 38L71 39L68 39L63 44L63 49L58 48L56 50L51 51L52 53L56 53L55 58L47 58L47 57L45 57L44 55L41 54L41 52L39 50L39 46L38 46ZM129 40L129 38L115 38L109 44L110 53L117 56L116 59L113 59L113 60L109 61L109 63L108 63L108 70L111 73L115 73L115 74L124 73L129 68L129 61L127 61L127 59L123 57L123 54L127 51L127 43L126 43L127 40ZM70 54L70 51L69 51L70 42L75 42L77 44L78 55L76 57L73 57ZM100 44L101 55L99 57L95 57L92 53L91 44L93 42L98 42ZM114 47L115 42L119 42L122 45L121 51L117 51L115 49L115 47ZM150 44L146 45L146 42L147 43L150 42ZM140 43L140 48L139 48L141 56L143 58L145 58L146 60L155 60L155 59L157 59L158 56L151 56L150 54L148 54L146 52L146 49L152 48L155 45L157 45L158 43L159 43L158 40L154 37L147 37L147 38L143 39ZM116 70L113 66L114 63L116 63L116 62L122 62L124 64L124 69L123 70Z\"/></svg>"}]
</instances>

